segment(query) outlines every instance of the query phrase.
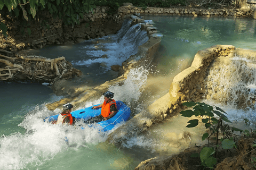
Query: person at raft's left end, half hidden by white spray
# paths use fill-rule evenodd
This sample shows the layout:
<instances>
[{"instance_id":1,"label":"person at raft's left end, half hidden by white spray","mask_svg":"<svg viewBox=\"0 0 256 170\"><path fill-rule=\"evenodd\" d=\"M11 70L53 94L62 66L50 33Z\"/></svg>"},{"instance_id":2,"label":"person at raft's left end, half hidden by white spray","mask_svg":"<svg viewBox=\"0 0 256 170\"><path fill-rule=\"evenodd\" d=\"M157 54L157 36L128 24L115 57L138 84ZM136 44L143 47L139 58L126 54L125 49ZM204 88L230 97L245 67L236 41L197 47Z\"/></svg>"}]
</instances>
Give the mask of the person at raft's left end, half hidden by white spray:
<instances>
[{"instance_id":1,"label":"person at raft's left end, half hidden by white spray","mask_svg":"<svg viewBox=\"0 0 256 170\"><path fill-rule=\"evenodd\" d=\"M70 112L72 111L73 105L70 103L66 103L62 105L63 111L59 114L58 120L55 122L56 124L69 124L74 125L75 117L73 117Z\"/></svg>"}]
</instances>

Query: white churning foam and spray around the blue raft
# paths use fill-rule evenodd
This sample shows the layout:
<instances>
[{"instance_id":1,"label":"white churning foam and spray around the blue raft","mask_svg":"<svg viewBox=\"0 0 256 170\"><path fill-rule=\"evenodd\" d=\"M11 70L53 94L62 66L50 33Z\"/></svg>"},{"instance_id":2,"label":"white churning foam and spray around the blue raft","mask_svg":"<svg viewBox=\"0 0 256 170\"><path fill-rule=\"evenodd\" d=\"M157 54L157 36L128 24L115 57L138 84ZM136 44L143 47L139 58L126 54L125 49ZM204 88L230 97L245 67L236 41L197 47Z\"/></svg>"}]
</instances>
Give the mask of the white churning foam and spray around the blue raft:
<instances>
[{"instance_id":1,"label":"white churning foam and spray around the blue raft","mask_svg":"<svg viewBox=\"0 0 256 170\"><path fill-rule=\"evenodd\" d=\"M115 99L126 101L127 105L132 107L131 105L134 105L140 97L141 89L147 80L147 74L148 71L142 67L137 70L131 70L127 79L124 81L123 86L116 84L110 87L110 90L115 93ZM98 103L103 103L103 97L84 103L81 108ZM135 114L140 112L138 104L133 110L135 111ZM111 166L108 165L110 160L105 160L100 156L105 149L102 150L98 147L100 147L99 143L106 141L107 134L114 130L108 133L101 133L99 132L99 129L89 128L83 122L78 122L78 125L74 127L54 125L43 121L45 117L60 112L60 109L49 111L45 107L45 104L39 105L33 111L30 111L19 124L21 128L26 129L25 133L17 132L6 136L2 135L0 138L0 169L29 169L34 166L47 167L47 164L50 164L53 159L65 164L64 162L66 162L67 159L75 161L76 159L71 158L70 155L73 155L74 153L82 154L82 150L84 153L81 157L76 156L76 158L82 159L85 157L87 159L85 162L88 164L91 162L90 166L92 166L92 162L97 164L97 159L100 157L100 159L103 159L100 162L103 163L99 165L98 169L102 169L102 167L106 166L111 168ZM85 129L80 129L79 125L83 125ZM66 139L68 139L68 142L66 142ZM110 157L109 155L111 155L111 152L113 151L117 151L117 149L112 147L108 151L110 153L105 153L106 156ZM65 161L62 160L62 155L66 155ZM121 152L116 156L111 157L113 162L115 159L118 159L117 156L125 157L127 159L127 156ZM96 157L97 159L94 160ZM123 166L129 167L131 164L132 163L129 160L129 163L125 162L123 163ZM58 164L51 166L59 167ZM97 165L91 169L97 169L96 167ZM65 167L62 169L69 168L70 166L65 164ZM88 167L85 169L88 169ZM118 167L116 167L116 169L118 169Z\"/></svg>"}]
</instances>

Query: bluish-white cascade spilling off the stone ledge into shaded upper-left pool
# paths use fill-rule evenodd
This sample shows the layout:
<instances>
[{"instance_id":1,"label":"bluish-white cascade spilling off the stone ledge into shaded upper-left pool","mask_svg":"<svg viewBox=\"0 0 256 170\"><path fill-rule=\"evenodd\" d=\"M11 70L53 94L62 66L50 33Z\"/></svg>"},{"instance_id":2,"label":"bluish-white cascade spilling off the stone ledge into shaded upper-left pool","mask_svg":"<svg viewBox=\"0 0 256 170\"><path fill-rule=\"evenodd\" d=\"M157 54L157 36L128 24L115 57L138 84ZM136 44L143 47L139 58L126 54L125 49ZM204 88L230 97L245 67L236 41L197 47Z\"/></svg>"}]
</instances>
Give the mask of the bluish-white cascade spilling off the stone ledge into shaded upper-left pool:
<instances>
[{"instance_id":1,"label":"bluish-white cascade spilling off the stone ledge into shaded upper-left pool","mask_svg":"<svg viewBox=\"0 0 256 170\"><path fill-rule=\"evenodd\" d=\"M147 32L140 30L141 24L130 27L131 23L131 20L124 21L121 30L116 35L94 39L99 42L94 49L86 50L91 48L90 46L81 47L80 52L85 53L86 50L86 55L90 56L89 59L73 60L72 64L74 66L89 66L92 63L105 63L106 70L109 70L111 65L122 65L122 62L131 55L137 54L139 46L148 40ZM105 43L104 41L107 39L110 39L111 43ZM102 55L107 55L107 58L102 58Z\"/></svg>"}]
</instances>

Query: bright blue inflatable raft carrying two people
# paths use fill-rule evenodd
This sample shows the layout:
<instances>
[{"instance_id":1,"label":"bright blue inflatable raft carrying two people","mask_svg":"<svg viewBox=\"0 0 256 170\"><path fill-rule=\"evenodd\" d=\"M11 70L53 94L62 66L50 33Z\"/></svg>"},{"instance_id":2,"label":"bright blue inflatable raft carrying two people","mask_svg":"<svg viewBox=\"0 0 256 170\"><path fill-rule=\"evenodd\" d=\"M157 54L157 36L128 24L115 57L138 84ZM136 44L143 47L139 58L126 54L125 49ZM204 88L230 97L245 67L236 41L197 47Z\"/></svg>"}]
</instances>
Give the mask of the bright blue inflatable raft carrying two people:
<instances>
[{"instance_id":1,"label":"bright blue inflatable raft carrying two people","mask_svg":"<svg viewBox=\"0 0 256 170\"><path fill-rule=\"evenodd\" d=\"M94 105L94 106L98 106L98 105ZM116 101L116 106L117 106L117 113L113 117L109 118L109 120L107 121L101 121L97 123L101 125L103 131L109 131L113 129L116 124L125 122L130 117L131 109L128 106L126 106L122 101ZM101 114L101 108L92 109L92 107L93 106L79 109L77 111L71 112L71 114L77 120L83 119L84 121L88 120L91 117L95 117ZM46 117L45 120L49 119L49 122L57 121L58 116L59 114Z\"/></svg>"}]
</instances>

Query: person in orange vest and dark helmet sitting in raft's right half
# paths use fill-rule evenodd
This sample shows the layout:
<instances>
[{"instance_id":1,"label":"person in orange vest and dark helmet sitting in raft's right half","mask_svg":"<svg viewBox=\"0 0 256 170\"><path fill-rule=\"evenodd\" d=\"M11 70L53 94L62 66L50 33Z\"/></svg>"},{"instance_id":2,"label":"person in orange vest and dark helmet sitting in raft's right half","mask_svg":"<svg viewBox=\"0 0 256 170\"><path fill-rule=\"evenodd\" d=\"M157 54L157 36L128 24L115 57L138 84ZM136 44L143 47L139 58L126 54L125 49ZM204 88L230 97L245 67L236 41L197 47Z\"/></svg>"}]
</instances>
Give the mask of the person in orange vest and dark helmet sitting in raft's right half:
<instances>
[{"instance_id":1,"label":"person in orange vest and dark helmet sitting in raft's right half","mask_svg":"<svg viewBox=\"0 0 256 170\"><path fill-rule=\"evenodd\" d=\"M107 91L103 94L104 102L98 106L93 106L92 109L101 107L101 114L99 116L95 116L85 121L85 123L97 123L101 121L106 121L109 118L113 117L116 114L116 101L112 99L114 97L114 93Z\"/></svg>"}]
</instances>

